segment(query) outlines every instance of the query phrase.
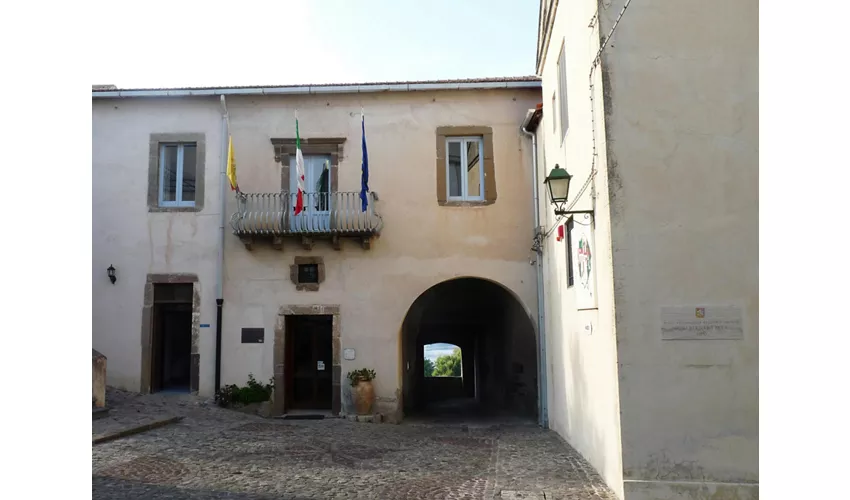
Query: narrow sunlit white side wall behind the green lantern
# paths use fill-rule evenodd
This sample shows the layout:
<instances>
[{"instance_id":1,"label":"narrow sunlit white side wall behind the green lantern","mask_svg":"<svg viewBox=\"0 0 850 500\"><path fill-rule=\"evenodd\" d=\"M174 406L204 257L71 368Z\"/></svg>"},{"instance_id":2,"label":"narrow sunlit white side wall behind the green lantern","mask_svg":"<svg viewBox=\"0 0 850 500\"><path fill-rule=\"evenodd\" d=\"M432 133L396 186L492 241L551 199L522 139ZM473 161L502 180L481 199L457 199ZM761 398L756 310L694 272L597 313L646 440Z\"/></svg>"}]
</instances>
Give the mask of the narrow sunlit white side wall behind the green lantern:
<instances>
[{"instance_id":1,"label":"narrow sunlit white side wall behind the green lantern","mask_svg":"<svg viewBox=\"0 0 850 500\"><path fill-rule=\"evenodd\" d=\"M552 35L542 67L543 121L538 128L540 154L540 213L544 230L551 230L543 247L544 296L547 339L547 394L549 426L574 446L622 498L620 409L617 379L617 343L614 331L612 252L608 182L605 170L605 134L601 75L594 73L595 131L591 127L589 73L599 49L598 26L588 24L596 12L596 2L559 2ZM560 116L552 95L558 93L558 56L566 47L569 131L561 140ZM557 106L557 101L556 101ZM553 131L553 120L557 130ZM590 178L594 168L592 138L595 133L598 156L593 184L578 199L573 210L594 208L591 192L595 187L595 252L597 309L577 310L575 288L567 286L567 239L556 241L556 218L543 179L555 164L573 176L570 200ZM565 227L566 230L566 227ZM576 278L576 286L578 279ZM590 326L588 332L585 328Z\"/></svg>"}]
</instances>

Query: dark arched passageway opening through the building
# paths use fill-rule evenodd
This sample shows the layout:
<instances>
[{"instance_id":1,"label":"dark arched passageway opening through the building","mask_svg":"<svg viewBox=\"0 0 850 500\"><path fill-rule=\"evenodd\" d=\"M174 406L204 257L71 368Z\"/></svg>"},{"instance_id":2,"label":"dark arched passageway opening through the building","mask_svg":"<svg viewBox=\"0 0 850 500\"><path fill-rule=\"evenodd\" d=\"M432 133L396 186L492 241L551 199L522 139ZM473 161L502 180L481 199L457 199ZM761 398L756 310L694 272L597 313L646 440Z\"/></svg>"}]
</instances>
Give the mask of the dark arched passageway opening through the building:
<instances>
[{"instance_id":1,"label":"dark arched passageway opening through the building","mask_svg":"<svg viewBox=\"0 0 850 500\"><path fill-rule=\"evenodd\" d=\"M457 348L442 355L461 358L459 376L426 376L438 344ZM457 278L431 287L402 325L405 416L536 417L536 346L531 319L500 285Z\"/></svg>"}]
</instances>

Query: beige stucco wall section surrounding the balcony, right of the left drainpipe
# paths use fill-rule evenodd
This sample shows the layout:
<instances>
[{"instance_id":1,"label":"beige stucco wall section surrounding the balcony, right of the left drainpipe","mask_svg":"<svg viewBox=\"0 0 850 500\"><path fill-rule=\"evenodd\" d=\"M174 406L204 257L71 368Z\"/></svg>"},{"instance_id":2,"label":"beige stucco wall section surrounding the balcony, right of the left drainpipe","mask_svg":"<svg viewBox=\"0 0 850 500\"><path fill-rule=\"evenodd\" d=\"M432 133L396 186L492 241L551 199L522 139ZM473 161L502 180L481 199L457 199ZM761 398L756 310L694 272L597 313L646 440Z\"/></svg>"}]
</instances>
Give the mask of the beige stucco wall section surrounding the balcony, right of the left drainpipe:
<instances>
[{"instance_id":1,"label":"beige stucco wall section surrounding the balcony, right of the left drainpipe","mask_svg":"<svg viewBox=\"0 0 850 500\"><path fill-rule=\"evenodd\" d=\"M342 360L343 385L349 370L374 368L379 409L392 411L401 390L402 321L428 288L461 276L485 278L508 288L534 314L531 158L519 124L539 99L537 90L229 98L239 184L246 192L280 185L270 138L295 136L296 107L302 138L347 138L339 190L358 191L362 106L369 184L380 196L384 229L370 250L345 241L335 251L318 241L307 251L287 240L282 252L268 243L249 252L228 235L222 382L243 383L249 372L258 379L272 376L274 324L282 305L339 304L342 348L356 350L355 360ZM443 125L493 128L495 204L437 205L435 131ZM234 210L232 197L228 203ZM289 278L293 258L307 255L324 258L326 279L318 292L297 292ZM243 327L263 327L265 342L241 344Z\"/></svg>"}]
</instances>

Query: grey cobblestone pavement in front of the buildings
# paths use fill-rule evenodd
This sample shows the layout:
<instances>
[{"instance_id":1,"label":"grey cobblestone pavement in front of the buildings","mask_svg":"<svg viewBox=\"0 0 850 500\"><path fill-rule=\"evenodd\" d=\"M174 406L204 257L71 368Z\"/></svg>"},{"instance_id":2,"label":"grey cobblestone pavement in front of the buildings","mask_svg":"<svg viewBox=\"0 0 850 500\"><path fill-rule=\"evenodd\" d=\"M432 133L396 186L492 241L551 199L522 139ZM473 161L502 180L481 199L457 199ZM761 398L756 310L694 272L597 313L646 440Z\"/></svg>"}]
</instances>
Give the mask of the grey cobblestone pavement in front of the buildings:
<instances>
[{"instance_id":1,"label":"grey cobblestone pavement in front of the buildings","mask_svg":"<svg viewBox=\"0 0 850 500\"><path fill-rule=\"evenodd\" d=\"M189 396L125 405L186 418L93 446L95 499L615 498L578 453L532 425L267 420Z\"/></svg>"}]
</instances>

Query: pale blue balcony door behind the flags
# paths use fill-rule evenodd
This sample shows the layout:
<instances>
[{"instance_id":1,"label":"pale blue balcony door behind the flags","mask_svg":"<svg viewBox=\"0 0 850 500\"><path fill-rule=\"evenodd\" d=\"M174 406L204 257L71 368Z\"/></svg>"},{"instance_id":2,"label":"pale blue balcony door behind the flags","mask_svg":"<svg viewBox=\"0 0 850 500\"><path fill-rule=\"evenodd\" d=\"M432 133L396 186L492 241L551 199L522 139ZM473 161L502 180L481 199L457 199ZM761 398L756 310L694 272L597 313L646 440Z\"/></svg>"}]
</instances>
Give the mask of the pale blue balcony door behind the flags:
<instances>
[{"instance_id":1,"label":"pale blue balcony door behind the flags","mask_svg":"<svg viewBox=\"0 0 850 500\"><path fill-rule=\"evenodd\" d=\"M328 232L331 221L331 157L304 156L304 211L295 215L298 195L298 169L295 155L289 160L290 227L304 232Z\"/></svg>"}]
</instances>

